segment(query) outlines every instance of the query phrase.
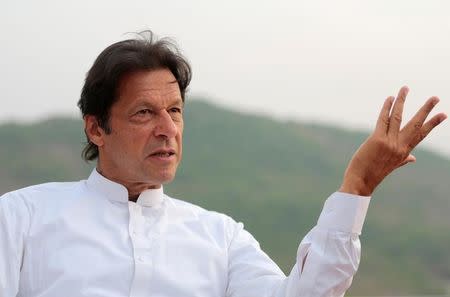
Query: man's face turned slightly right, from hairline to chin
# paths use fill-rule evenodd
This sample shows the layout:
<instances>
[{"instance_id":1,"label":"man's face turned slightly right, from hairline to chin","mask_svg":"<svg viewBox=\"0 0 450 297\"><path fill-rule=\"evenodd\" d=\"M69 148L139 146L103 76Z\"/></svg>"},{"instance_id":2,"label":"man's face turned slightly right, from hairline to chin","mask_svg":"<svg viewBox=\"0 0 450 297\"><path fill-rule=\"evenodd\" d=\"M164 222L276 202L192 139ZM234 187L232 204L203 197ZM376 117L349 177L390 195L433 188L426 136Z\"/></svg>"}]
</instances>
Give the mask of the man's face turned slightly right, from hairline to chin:
<instances>
[{"instance_id":1,"label":"man's face turned slightly right, from hairline to chin","mask_svg":"<svg viewBox=\"0 0 450 297\"><path fill-rule=\"evenodd\" d=\"M119 84L102 133L99 170L130 187L158 188L170 182L181 161L183 101L167 69L134 72Z\"/></svg>"}]
</instances>

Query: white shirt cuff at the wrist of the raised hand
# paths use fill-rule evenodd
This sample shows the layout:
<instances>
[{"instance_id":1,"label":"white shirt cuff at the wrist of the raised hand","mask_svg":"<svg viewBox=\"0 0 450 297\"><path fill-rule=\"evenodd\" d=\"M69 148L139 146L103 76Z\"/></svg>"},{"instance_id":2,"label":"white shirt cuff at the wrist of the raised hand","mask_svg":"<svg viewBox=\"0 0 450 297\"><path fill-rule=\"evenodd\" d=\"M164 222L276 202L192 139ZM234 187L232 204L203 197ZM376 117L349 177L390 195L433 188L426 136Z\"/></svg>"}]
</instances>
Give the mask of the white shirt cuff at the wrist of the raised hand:
<instances>
[{"instance_id":1,"label":"white shirt cuff at the wrist of the raised hand","mask_svg":"<svg viewBox=\"0 0 450 297\"><path fill-rule=\"evenodd\" d=\"M325 201L317 226L361 234L370 197L335 192Z\"/></svg>"}]
</instances>

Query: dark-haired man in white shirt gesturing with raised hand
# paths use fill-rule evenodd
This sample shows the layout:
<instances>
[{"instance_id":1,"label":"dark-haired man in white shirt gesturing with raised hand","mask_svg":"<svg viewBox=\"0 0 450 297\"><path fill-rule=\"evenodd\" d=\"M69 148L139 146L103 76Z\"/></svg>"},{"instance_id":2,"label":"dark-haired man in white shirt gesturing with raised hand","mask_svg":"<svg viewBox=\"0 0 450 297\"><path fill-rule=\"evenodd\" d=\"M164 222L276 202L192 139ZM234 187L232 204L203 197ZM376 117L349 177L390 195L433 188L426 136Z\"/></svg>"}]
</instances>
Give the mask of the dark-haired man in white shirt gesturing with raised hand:
<instances>
[{"instance_id":1,"label":"dark-haired man in white shirt gesturing with raised hand","mask_svg":"<svg viewBox=\"0 0 450 297\"><path fill-rule=\"evenodd\" d=\"M408 89L389 97L285 276L241 223L163 193L181 161L190 78L166 40L126 40L99 55L78 102L83 155L96 169L0 199L1 297L343 296L372 192L446 118L425 122L432 97L400 129Z\"/></svg>"}]
</instances>

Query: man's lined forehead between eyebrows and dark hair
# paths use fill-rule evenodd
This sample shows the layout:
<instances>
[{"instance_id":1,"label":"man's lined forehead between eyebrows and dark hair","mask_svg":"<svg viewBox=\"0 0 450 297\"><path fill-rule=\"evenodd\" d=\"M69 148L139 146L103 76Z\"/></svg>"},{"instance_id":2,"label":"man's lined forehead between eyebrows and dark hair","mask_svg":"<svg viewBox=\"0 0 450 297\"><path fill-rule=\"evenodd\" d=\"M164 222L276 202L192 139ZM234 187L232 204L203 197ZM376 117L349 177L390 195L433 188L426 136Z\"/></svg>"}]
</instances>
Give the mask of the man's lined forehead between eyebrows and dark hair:
<instances>
[{"instance_id":1,"label":"man's lined forehead between eyebrows and dark hair","mask_svg":"<svg viewBox=\"0 0 450 297\"><path fill-rule=\"evenodd\" d=\"M124 75L119 82L116 103L132 105L142 100L154 104L181 100L180 88L172 72L168 69L158 69Z\"/></svg>"}]
</instances>

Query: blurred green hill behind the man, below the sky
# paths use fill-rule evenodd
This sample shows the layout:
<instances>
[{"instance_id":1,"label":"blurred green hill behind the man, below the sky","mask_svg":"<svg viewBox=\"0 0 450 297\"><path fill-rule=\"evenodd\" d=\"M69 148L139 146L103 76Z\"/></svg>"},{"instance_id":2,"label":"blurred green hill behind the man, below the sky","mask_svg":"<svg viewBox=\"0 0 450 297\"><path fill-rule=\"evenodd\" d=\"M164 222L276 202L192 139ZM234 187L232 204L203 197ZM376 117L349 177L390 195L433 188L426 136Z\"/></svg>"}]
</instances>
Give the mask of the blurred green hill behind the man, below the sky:
<instances>
[{"instance_id":1,"label":"blurred green hill behind the man, below the sky","mask_svg":"<svg viewBox=\"0 0 450 297\"><path fill-rule=\"evenodd\" d=\"M190 101L177 198L243 221L288 272L299 241L365 133L279 122ZM84 179L82 122L50 119L0 126L0 193L46 181ZM442 294L450 284L450 160L429 151L375 193L362 262L348 295Z\"/></svg>"}]
</instances>

